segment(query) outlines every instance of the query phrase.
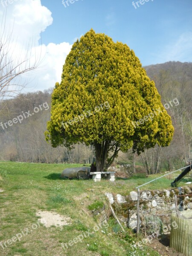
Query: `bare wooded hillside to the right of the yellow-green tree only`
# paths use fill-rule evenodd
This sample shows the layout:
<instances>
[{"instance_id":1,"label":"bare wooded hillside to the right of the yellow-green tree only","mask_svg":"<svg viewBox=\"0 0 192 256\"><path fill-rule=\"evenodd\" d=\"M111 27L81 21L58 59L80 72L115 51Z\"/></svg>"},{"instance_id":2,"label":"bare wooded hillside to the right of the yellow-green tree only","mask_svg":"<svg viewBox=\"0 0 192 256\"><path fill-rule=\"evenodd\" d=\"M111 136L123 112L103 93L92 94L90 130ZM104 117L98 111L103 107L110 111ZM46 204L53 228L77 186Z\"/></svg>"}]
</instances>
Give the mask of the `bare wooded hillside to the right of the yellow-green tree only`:
<instances>
[{"instance_id":1,"label":"bare wooded hillside to the right of the yellow-green tree only","mask_svg":"<svg viewBox=\"0 0 192 256\"><path fill-rule=\"evenodd\" d=\"M168 106L167 112L172 118L175 129L171 145L161 151L161 154L163 153L161 161L163 160L164 164L169 166L169 170L183 167L182 160L184 164L188 164L188 147L192 145L192 105L190 104L192 102L190 93L192 63L169 61L148 66L146 70L150 78L155 81L157 90L162 96L162 102ZM175 99L174 103L173 99ZM157 152L153 151L154 154Z\"/></svg>"}]
</instances>

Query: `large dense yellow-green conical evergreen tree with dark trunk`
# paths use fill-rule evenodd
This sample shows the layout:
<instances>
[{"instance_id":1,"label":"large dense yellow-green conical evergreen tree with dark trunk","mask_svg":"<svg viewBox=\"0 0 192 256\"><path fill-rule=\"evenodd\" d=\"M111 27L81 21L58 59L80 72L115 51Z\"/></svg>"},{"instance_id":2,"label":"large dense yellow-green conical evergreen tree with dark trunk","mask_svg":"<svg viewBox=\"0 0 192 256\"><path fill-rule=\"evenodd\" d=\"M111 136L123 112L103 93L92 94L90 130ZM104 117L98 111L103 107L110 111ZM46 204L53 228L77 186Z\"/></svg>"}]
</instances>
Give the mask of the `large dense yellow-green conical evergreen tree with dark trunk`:
<instances>
[{"instance_id":1,"label":"large dense yellow-green conical evergreen tree with dark trunk","mask_svg":"<svg viewBox=\"0 0 192 256\"><path fill-rule=\"evenodd\" d=\"M97 171L103 171L120 149L140 153L172 140L155 84L126 44L91 29L73 44L61 78L45 132L53 147L94 145Z\"/></svg>"}]
</instances>

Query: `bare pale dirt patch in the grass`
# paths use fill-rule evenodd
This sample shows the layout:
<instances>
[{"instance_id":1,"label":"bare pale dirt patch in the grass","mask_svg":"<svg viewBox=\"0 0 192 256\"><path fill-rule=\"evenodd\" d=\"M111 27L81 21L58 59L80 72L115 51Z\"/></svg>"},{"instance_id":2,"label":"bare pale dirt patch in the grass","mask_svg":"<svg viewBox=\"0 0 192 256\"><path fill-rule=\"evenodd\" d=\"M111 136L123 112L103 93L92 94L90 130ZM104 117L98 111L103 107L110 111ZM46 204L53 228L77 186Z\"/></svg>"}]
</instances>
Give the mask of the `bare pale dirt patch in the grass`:
<instances>
[{"instance_id":1,"label":"bare pale dirt patch in the grass","mask_svg":"<svg viewBox=\"0 0 192 256\"><path fill-rule=\"evenodd\" d=\"M36 213L37 216L41 217L40 222L45 225L45 227L62 227L66 225L70 225L71 218L61 216L55 212L48 212L48 211L39 211Z\"/></svg>"}]
</instances>

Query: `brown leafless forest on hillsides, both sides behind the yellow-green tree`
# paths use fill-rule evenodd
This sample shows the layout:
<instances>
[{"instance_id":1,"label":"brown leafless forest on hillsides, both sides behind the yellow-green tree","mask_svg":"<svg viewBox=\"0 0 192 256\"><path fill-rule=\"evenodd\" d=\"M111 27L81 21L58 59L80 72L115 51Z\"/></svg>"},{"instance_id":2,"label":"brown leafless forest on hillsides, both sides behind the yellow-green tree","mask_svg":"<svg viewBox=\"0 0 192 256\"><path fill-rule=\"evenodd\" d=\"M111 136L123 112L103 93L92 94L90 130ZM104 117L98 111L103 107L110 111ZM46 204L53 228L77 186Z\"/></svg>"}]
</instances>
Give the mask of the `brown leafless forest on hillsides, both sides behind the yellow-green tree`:
<instances>
[{"instance_id":1,"label":"brown leafless forest on hillsides, both sides behind the yellow-green tree","mask_svg":"<svg viewBox=\"0 0 192 256\"><path fill-rule=\"evenodd\" d=\"M175 128L172 143L155 146L140 156L119 152L116 161L139 160L147 173L172 170L189 162L192 149L192 63L166 62L144 67L156 84ZM33 163L92 163L93 146L52 148L44 131L50 119L52 89L20 94L0 102L0 160Z\"/></svg>"}]
</instances>

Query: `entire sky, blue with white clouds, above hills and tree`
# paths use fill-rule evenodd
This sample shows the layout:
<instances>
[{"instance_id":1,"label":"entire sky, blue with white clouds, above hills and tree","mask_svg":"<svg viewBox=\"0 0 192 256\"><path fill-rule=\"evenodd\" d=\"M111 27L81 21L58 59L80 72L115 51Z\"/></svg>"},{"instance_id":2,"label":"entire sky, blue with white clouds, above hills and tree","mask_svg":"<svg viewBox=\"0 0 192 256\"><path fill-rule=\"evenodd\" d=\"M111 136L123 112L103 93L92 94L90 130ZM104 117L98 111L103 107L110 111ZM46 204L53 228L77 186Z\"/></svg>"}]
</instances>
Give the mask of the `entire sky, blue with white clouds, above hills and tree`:
<instances>
[{"instance_id":1,"label":"entire sky, blue with white clouds, above hills and tree","mask_svg":"<svg viewBox=\"0 0 192 256\"><path fill-rule=\"evenodd\" d=\"M0 0L0 18L6 14L6 31L13 28L11 57L22 59L28 52L31 61L42 58L37 72L22 78L30 80L28 91L45 90L60 82L74 41L91 28L127 44L143 66L192 62L192 0L63 3L66 7L62 0Z\"/></svg>"}]
</instances>

